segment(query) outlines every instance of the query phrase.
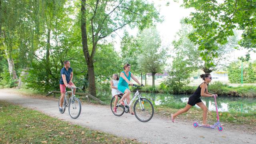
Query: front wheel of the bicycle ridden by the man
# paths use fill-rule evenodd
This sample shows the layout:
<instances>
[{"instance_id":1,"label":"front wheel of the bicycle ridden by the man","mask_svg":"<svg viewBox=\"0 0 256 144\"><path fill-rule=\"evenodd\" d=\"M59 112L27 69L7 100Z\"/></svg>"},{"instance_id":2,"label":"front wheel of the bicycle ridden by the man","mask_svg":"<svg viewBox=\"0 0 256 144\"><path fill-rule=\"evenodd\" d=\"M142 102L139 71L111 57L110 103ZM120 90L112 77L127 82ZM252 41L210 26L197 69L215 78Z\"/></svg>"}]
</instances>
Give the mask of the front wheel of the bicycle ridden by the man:
<instances>
[{"instance_id":1,"label":"front wheel of the bicycle ridden by the man","mask_svg":"<svg viewBox=\"0 0 256 144\"><path fill-rule=\"evenodd\" d=\"M68 113L71 116L71 118L78 118L81 114L81 102L78 98L73 97L73 100L71 98L71 102L69 103L68 106Z\"/></svg>"}]
</instances>

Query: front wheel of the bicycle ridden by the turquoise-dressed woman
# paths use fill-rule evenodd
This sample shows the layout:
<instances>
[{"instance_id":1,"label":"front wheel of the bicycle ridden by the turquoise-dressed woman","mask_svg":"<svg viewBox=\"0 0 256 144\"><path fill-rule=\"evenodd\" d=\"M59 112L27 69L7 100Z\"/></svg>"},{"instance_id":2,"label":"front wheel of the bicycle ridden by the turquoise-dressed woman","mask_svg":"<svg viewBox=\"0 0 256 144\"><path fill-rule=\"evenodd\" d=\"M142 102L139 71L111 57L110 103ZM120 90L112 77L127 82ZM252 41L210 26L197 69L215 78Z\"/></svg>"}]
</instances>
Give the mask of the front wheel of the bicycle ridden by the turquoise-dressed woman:
<instances>
[{"instance_id":1,"label":"front wheel of the bicycle ridden by the turquoise-dressed woman","mask_svg":"<svg viewBox=\"0 0 256 144\"><path fill-rule=\"evenodd\" d=\"M154 107L146 98L140 98L140 102L139 99L136 100L133 110L136 118L141 122L150 121L154 114Z\"/></svg>"}]
</instances>

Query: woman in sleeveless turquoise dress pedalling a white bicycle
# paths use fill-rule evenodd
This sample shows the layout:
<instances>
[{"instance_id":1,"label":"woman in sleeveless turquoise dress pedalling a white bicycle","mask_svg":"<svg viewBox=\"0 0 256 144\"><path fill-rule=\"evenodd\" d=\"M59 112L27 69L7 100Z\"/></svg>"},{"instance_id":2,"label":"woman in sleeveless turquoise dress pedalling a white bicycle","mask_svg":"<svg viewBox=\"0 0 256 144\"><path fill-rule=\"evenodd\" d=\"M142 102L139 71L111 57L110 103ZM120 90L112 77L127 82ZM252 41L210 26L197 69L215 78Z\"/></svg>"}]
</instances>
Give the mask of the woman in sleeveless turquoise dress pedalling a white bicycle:
<instances>
[{"instance_id":1,"label":"woman in sleeveless turquoise dress pedalling a white bicycle","mask_svg":"<svg viewBox=\"0 0 256 144\"><path fill-rule=\"evenodd\" d=\"M128 84L130 84L131 86L133 86L133 84L130 82L130 79L132 77L132 79L137 82L139 85L140 82L137 80L137 78L135 78L133 76L133 74L130 72L131 70L131 65L130 64L125 64L124 65L124 71L122 71L120 73L120 80L118 82L118 90L120 90L122 93L124 93L124 95L122 96L122 98L120 99L120 103L124 106L124 99L127 99L127 104L130 104L130 89ZM134 112L131 112L132 115L134 115Z\"/></svg>"}]
</instances>

